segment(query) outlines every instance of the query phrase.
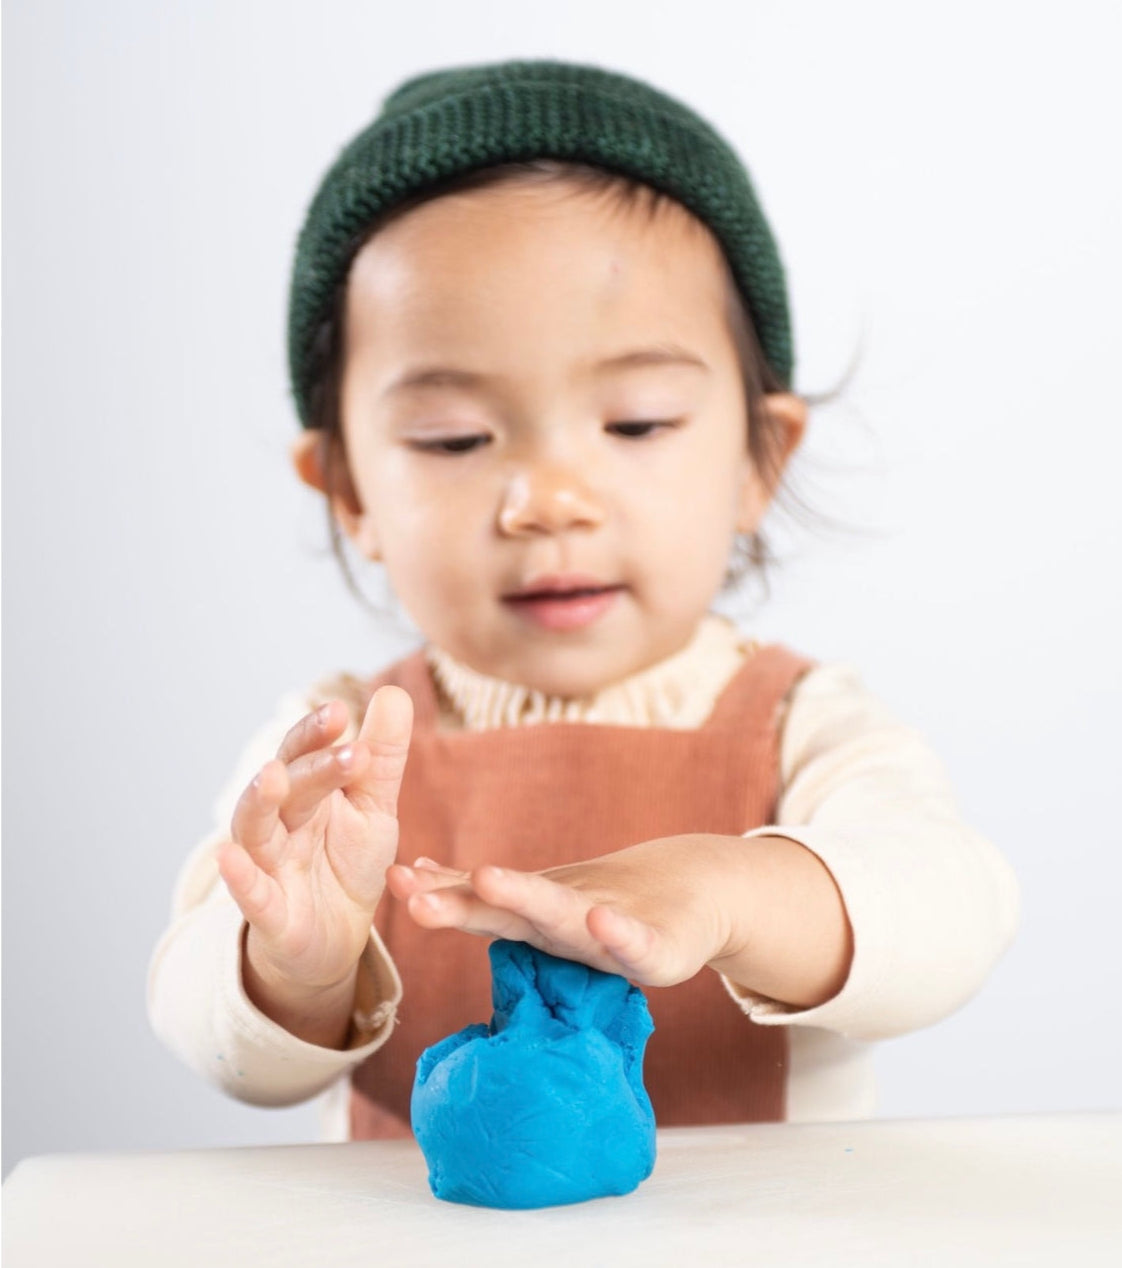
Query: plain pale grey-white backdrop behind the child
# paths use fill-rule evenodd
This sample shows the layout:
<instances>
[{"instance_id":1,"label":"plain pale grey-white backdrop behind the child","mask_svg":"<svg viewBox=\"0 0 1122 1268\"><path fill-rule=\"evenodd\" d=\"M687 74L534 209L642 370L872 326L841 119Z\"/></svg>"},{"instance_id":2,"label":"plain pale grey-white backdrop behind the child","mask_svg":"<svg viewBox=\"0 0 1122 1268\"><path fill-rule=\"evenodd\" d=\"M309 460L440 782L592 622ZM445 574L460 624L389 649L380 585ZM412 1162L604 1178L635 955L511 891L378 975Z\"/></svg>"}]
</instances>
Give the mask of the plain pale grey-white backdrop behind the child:
<instances>
[{"instance_id":1,"label":"plain pale grey-white backdrop behind the child","mask_svg":"<svg viewBox=\"0 0 1122 1268\"><path fill-rule=\"evenodd\" d=\"M312 189L399 80L559 56L745 156L787 261L796 476L745 614L853 661L1013 862L981 994L882 1113L1118 1106L1119 166L1112 4L23 0L4 9L5 1168L308 1140L151 1037L188 848L284 691L408 645L346 593L283 330Z\"/></svg>"}]
</instances>

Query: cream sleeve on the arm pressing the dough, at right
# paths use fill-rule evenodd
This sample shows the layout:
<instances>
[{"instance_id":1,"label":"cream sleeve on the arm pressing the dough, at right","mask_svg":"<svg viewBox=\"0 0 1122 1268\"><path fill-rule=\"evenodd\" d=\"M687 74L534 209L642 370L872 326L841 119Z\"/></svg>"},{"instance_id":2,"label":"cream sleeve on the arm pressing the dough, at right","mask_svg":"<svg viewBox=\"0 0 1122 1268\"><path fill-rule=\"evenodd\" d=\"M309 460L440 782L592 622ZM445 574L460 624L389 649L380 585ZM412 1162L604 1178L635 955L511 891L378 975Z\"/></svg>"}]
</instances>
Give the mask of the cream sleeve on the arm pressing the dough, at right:
<instances>
[{"instance_id":1,"label":"cream sleeve on the arm pressing the dough, at right","mask_svg":"<svg viewBox=\"0 0 1122 1268\"><path fill-rule=\"evenodd\" d=\"M781 738L781 836L829 869L853 931L837 995L797 1008L725 980L763 1025L819 1026L851 1038L901 1035L974 995L1013 938L1012 869L958 817L946 772L847 666L822 666L791 694Z\"/></svg>"}]
</instances>

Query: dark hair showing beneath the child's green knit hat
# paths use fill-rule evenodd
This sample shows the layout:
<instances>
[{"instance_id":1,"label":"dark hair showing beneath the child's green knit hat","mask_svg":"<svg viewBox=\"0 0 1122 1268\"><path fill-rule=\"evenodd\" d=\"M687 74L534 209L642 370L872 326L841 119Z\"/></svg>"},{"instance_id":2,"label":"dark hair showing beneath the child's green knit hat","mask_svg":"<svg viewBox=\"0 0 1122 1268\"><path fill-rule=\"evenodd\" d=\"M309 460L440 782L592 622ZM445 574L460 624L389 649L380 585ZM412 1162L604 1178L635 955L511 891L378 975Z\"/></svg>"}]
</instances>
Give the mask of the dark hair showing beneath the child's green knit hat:
<instances>
[{"instance_id":1,"label":"dark hair showing beneath the child's green knit hat","mask_svg":"<svg viewBox=\"0 0 1122 1268\"><path fill-rule=\"evenodd\" d=\"M434 198L530 181L563 184L584 194L603 194L612 199L616 205L626 210L639 210L648 219L654 219L667 204L681 208L686 214L692 214L668 194L620 172L582 162L532 158L480 167L412 195L380 216L355 237L351 243L350 259L354 260L379 230ZM702 222L697 221L697 223ZM724 254L721 254L721 259L724 260ZM782 476L786 436L783 427L768 413L766 397L771 392L785 389L761 350L748 316L748 308L737 289L728 265L725 265L725 276L726 318L740 363L744 387L748 453L766 487L771 492L776 492ZM344 482L349 483L346 441L340 411L340 391L346 354L346 280L344 280L336 288L330 314L321 322L314 335L309 359L308 422L322 436L331 548L342 568L347 587L360 601L366 602L347 564L339 524L331 511L332 496L344 487ZM759 579L766 583L766 573L771 563L773 563L772 553L762 533L757 531L738 538L725 574L725 588L735 586L749 572L756 572Z\"/></svg>"}]
</instances>

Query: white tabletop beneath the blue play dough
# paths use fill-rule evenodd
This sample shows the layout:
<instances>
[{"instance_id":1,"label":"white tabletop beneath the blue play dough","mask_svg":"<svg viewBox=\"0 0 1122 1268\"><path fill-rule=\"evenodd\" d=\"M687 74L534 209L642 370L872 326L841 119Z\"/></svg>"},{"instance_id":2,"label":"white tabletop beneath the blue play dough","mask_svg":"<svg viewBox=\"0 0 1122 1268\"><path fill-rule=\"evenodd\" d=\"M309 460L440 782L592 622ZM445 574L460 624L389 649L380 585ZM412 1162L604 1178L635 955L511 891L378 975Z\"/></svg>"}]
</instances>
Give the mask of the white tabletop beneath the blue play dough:
<instances>
[{"instance_id":1,"label":"white tabletop beneath the blue play dough","mask_svg":"<svg viewBox=\"0 0 1122 1268\"><path fill-rule=\"evenodd\" d=\"M20 1163L4 1268L1122 1264L1122 1113L680 1127L628 1197L439 1202L412 1141Z\"/></svg>"}]
</instances>

